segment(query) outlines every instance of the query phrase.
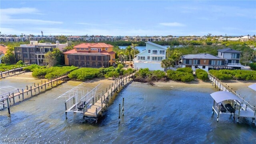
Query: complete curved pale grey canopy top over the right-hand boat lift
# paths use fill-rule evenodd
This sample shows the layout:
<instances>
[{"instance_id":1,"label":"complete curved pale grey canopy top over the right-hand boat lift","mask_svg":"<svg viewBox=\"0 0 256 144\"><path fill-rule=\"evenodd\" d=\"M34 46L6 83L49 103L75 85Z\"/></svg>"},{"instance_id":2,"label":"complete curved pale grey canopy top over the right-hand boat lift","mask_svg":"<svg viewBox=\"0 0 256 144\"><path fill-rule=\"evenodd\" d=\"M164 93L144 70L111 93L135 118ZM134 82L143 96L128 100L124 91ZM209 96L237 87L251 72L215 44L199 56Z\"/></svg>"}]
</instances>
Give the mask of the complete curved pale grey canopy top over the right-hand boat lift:
<instances>
[{"instance_id":1,"label":"complete curved pale grey canopy top over the right-hand boat lift","mask_svg":"<svg viewBox=\"0 0 256 144\"><path fill-rule=\"evenodd\" d=\"M240 102L242 102L241 98L232 94L231 92L218 91L218 92L214 92L210 95L217 103L222 102L223 100L239 100Z\"/></svg>"}]
</instances>

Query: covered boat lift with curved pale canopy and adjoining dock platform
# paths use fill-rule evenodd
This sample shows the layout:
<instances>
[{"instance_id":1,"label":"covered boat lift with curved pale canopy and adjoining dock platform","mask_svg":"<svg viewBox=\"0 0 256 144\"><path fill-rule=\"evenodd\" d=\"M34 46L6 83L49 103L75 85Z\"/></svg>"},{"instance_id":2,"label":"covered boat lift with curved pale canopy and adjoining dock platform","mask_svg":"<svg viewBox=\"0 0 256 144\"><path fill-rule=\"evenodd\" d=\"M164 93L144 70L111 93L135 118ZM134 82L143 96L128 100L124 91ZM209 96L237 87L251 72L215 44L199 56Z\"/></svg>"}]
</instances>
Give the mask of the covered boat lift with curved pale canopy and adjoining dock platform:
<instances>
[{"instance_id":1,"label":"covered boat lift with curved pale canopy and adjoining dock platform","mask_svg":"<svg viewBox=\"0 0 256 144\"><path fill-rule=\"evenodd\" d=\"M236 122L239 122L240 117L249 117L252 118L252 123L255 124L255 106L252 110L248 105L244 104L244 100L231 92L218 91L210 94L210 96L214 99L212 114L214 115L214 112L217 114L217 122L219 121L220 114L231 113L232 115L232 113L234 113L234 120L236 120Z\"/></svg>"}]
</instances>

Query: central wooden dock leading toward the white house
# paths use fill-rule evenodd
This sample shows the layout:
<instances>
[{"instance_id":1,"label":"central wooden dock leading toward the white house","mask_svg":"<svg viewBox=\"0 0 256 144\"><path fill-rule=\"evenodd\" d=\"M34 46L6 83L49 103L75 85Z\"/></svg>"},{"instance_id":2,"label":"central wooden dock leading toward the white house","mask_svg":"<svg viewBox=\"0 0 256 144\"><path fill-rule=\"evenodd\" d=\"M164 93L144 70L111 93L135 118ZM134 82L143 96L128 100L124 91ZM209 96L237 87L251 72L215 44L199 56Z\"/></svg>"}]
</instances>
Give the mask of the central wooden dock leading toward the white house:
<instances>
[{"instance_id":1,"label":"central wooden dock leading toward the white house","mask_svg":"<svg viewBox=\"0 0 256 144\"><path fill-rule=\"evenodd\" d=\"M94 100L87 108L87 106L84 106L84 117L94 117L97 120L98 116L102 116L103 112L106 110L109 99L114 96L117 92L119 92L124 86L126 86L131 80L132 76L134 76L135 73L126 75L122 78L118 78L116 80L115 84L112 84L112 87L106 88L106 93L102 91L102 96L95 96L95 103ZM108 89L108 90L107 90Z\"/></svg>"}]
</instances>

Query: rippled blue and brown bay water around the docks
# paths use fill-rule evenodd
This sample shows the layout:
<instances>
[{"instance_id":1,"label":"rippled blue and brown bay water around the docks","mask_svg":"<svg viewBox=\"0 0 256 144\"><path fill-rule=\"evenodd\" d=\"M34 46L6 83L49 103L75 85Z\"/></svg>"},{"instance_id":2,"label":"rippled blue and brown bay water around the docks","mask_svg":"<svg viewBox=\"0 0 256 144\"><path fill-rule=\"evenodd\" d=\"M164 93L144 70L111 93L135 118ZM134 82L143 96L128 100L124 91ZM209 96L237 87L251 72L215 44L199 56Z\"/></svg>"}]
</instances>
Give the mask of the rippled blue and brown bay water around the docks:
<instances>
[{"instance_id":1,"label":"rippled blue and brown bay water around the docks","mask_svg":"<svg viewBox=\"0 0 256 144\"><path fill-rule=\"evenodd\" d=\"M6 84L5 80L2 84ZM19 82L20 83L20 82ZM212 118L213 88L163 88L133 82L120 92L98 124L85 124L82 114L64 114L58 96L79 82L67 82L1 112L1 138L24 138L26 143L246 143L256 142L256 126L229 115ZM118 126L118 105L124 116Z\"/></svg>"}]
</instances>

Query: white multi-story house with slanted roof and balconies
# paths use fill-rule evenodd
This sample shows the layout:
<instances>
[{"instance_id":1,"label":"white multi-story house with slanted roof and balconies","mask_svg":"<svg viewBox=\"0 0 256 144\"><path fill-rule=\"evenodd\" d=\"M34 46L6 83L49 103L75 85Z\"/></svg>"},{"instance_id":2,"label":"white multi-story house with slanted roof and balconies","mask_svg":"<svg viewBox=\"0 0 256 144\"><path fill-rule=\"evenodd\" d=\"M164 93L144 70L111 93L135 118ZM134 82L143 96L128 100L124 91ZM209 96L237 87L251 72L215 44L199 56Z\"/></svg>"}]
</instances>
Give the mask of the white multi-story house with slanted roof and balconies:
<instances>
[{"instance_id":1,"label":"white multi-story house with slanted roof and balconies","mask_svg":"<svg viewBox=\"0 0 256 144\"><path fill-rule=\"evenodd\" d=\"M146 50L136 54L133 59L134 68L148 68L149 70L164 70L161 67L162 60L165 59L167 47L160 46L153 42L145 42Z\"/></svg>"}]
</instances>

